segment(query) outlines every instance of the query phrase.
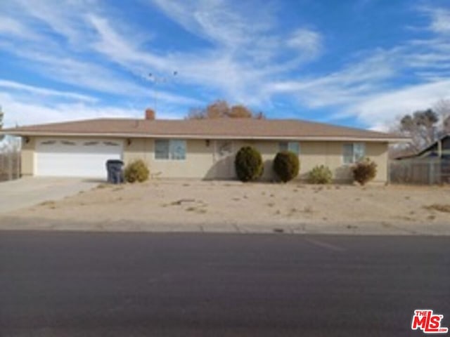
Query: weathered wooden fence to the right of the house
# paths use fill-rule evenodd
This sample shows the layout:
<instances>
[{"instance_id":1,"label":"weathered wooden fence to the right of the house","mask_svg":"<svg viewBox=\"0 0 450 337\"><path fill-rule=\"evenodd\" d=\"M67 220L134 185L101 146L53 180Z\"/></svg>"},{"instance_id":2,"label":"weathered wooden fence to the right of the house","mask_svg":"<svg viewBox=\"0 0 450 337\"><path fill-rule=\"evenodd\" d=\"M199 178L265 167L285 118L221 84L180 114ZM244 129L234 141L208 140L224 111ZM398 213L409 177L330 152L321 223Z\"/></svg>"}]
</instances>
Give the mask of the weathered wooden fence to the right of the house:
<instances>
[{"instance_id":1,"label":"weathered wooden fence to the right of the house","mask_svg":"<svg viewBox=\"0 0 450 337\"><path fill-rule=\"evenodd\" d=\"M450 160L420 158L392 160L389 163L390 183L435 185L450 183Z\"/></svg>"}]
</instances>

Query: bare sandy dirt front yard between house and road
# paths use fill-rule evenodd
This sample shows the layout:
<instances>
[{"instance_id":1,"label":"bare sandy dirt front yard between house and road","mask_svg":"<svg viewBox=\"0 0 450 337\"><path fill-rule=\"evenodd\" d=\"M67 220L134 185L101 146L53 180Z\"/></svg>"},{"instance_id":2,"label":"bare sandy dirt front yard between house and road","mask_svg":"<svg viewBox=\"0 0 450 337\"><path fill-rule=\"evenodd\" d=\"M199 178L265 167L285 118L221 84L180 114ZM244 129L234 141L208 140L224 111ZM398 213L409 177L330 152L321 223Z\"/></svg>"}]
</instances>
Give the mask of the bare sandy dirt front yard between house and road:
<instances>
[{"instance_id":1,"label":"bare sandy dirt front yard between house and road","mask_svg":"<svg viewBox=\"0 0 450 337\"><path fill-rule=\"evenodd\" d=\"M7 213L0 228L450 234L450 186L101 184Z\"/></svg>"}]
</instances>

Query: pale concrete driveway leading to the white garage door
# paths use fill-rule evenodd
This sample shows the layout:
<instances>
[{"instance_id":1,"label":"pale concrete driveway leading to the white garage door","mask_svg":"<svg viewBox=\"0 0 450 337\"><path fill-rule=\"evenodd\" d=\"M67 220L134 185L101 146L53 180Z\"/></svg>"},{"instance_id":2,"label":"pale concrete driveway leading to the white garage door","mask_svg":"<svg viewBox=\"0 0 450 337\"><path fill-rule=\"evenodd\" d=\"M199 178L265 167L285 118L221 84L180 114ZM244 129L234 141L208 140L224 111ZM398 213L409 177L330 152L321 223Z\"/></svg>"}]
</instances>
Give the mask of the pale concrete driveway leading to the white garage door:
<instances>
[{"instance_id":1,"label":"pale concrete driveway leading to the white garage door","mask_svg":"<svg viewBox=\"0 0 450 337\"><path fill-rule=\"evenodd\" d=\"M83 178L22 178L0 183L0 214L43 201L58 200L91 188L101 181Z\"/></svg>"}]
</instances>

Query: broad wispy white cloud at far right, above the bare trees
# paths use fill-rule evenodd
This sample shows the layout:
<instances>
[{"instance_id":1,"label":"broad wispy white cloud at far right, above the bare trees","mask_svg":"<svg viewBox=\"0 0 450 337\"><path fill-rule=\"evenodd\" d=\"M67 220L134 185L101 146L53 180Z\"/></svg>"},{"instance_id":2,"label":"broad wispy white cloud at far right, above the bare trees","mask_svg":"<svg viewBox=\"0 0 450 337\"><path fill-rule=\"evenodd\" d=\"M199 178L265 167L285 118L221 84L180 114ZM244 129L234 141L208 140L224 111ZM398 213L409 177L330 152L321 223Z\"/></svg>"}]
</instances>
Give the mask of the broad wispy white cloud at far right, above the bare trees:
<instances>
[{"instance_id":1,"label":"broad wispy white cloud at far right, above the bare trees","mask_svg":"<svg viewBox=\"0 0 450 337\"><path fill-rule=\"evenodd\" d=\"M440 21L430 25L439 27L435 32L442 34L444 26L436 22ZM269 82L266 91L295 95L297 104L313 109L333 107L336 112L330 121L354 117L370 128L386 130L398 116L450 97L449 52L449 39L440 35L406 40L390 49L366 52L331 74ZM402 83L405 73L416 84Z\"/></svg>"}]
</instances>

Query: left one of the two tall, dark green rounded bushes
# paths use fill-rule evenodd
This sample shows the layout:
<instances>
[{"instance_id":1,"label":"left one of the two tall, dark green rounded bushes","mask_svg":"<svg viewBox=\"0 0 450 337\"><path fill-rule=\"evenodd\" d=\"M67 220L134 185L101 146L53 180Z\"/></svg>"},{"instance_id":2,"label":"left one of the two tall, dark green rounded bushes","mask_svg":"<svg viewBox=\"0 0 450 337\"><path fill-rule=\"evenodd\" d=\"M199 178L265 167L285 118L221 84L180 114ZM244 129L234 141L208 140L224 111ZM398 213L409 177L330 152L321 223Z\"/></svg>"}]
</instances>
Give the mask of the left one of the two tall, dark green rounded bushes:
<instances>
[{"instance_id":1,"label":"left one of the two tall, dark green rounded bushes","mask_svg":"<svg viewBox=\"0 0 450 337\"><path fill-rule=\"evenodd\" d=\"M261 154L251 146L240 148L234 159L234 167L238 179L243 182L257 180L264 171Z\"/></svg>"}]
</instances>

